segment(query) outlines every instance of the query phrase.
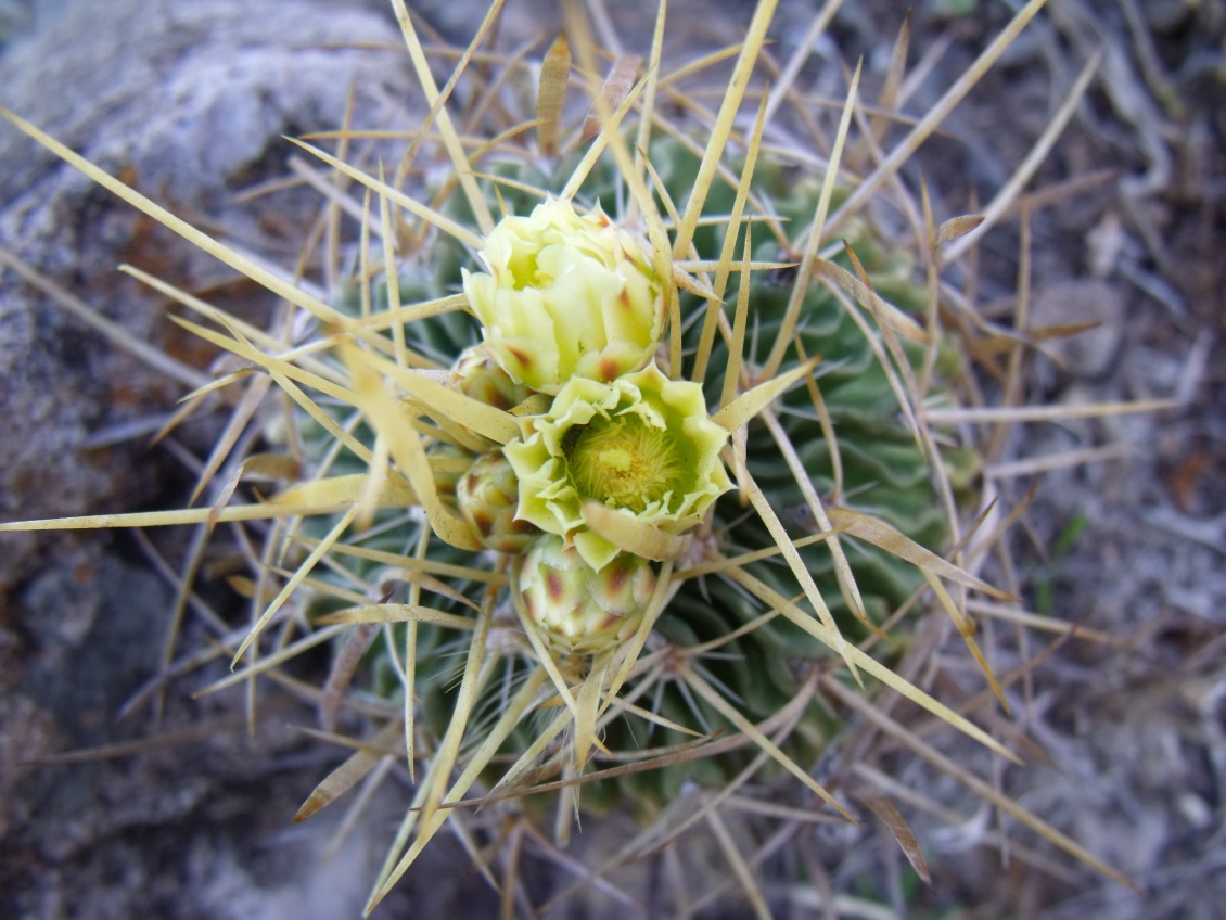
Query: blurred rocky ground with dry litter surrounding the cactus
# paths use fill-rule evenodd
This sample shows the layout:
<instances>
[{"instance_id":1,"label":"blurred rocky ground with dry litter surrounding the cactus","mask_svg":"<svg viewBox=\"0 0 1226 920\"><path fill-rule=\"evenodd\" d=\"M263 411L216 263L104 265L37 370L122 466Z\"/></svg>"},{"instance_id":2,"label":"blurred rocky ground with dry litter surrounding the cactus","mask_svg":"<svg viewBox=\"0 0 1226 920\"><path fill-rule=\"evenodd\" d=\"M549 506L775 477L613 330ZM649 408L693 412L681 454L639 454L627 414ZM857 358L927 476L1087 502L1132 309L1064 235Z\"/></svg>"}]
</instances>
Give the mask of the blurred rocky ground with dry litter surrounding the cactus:
<instances>
[{"instance_id":1,"label":"blurred rocky ground with dry litter surrounding the cactus","mask_svg":"<svg viewBox=\"0 0 1226 920\"><path fill-rule=\"evenodd\" d=\"M289 151L277 137L335 121L358 74L376 82L370 97L376 102L406 97L412 86L403 55L322 55L308 76L289 54L327 40L395 44L379 2L211 0L194 5L192 15L130 2L108 6L104 16L89 6L60 0L36 11L0 4L0 42L7 42L0 50L0 104L87 150L105 168L129 171L141 188L169 195L188 216L259 239L253 245L270 258L292 238L294 228L286 224L303 205L282 199L275 209L253 211L233 193L284 169ZM471 6L418 9L467 40L476 21ZM508 29L532 34L537 23L526 5L509 6ZM782 5L774 29L780 60L803 33L809 6ZM848 64L864 55L867 80L879 83L901 26L900 6L884 0L843 6L834 43L818 50ZM1008 6L916 4L911 60L948 42L915 96L917 110L1000 28ZM1035 184L1087 182L1065 186L1030 215L1032 326L1097 325L1078 339L1053 341L1051 357L1032 362L1029 395L1052 404L1173 397L1178 405L1097 422L1030 424L1008 445L1009 460L1108 443L1124 448L1043 475L1016 532L1021 570L992 573L1015 577L1029 608L1112 639L1074 638L1045 656L1025 693L1032 763L1002 770L998 781L1128 875L1140 893L1067 857L1052 857L1062 865L1047 871L1018 857L1002 864L997 850L983 845L998 829L997 817L900 756L895 763L908 784L967 821L950 827L913 819L934 884L893 887L894 898L906 903L889 910L1221 916L1226 364L1215 358L1226 331L1220 256L1226 4L1051 0L1048 6L906 178L915 183L923 172L939 213L982 205L1041 134L1080 67L1102 53L1086 101ZM718 15L699 15L702 5L673 4L684 25L672 40L718 47L733 39L749 7L728 4ZM650 16L639 5L615 5L613 13L628 42L649 34ZM313 29L313 22L326 28ZM121 54L134 36L156 52ZM830 74L819 79L837 96L841 77ZM253 291L227 288L216 269L42 158L10 129L0 130L0 244L87 302L105 304L109 316L161 347L186 353L191 346L158 323L156 298L115 276L116 261L217 291L254 315L271 308ZM1016 291L1020 226L1008 221L984 242L981 297L988 304L1005 304ZM205 356L191 357L205 368ZM0 448L5 519L184 500L191 476L183 459L206 449L213 433L207 424L152 451L130 438L161 424L180 384L107 347L12 271L0 277L0 368L12 381L0 395L10 420ZM148 420L152 428L141 428ZM1018 500L1031 481L1020 480L1018 494L1005 498ZM161 727L147 704L116 719L156 670L173 597L140 537L6 537L0 546L0 913L184 920L356 915L398 818L396 792L403 786L385 790L384 817L360 824L325 860L331 828L319 822L335 826L340 816L291 822L336 762L333 749L294 727L314 724L310 708L262 688L261 724L248 736L243 694L192 699L190 691L200 686L194 678L191 686L173 686ZM170 558L181 550L173 537L157 543ZM984 624L984 637L998 666L1019 660L1011 628ZM945 639L940 654L956 661L956 637ZM303 676L314 676L311 666L304 665ZM54 759L83 748L94 751L80 761ZM948 753L976 757L959 748ZM586 845L600 848L601 834L617 833L617 826L586 833ZM439 843L432 862L411 873L381 914L497 910L459 844ZM818 843L837 856L826 864L836 891L861 891L857 872L875 865L872 853L880 841ZM557 883L557 870L541 872L542 889ZM891 892L888 883L870 887L886 899ZM645 889L641 897L650 894ZM801 900L788 909L820 916ZM728 910L741 915L739 908ZM601 916L614 905L588 895L560 913L568 911Z\"/></svg>"}]
</instances>

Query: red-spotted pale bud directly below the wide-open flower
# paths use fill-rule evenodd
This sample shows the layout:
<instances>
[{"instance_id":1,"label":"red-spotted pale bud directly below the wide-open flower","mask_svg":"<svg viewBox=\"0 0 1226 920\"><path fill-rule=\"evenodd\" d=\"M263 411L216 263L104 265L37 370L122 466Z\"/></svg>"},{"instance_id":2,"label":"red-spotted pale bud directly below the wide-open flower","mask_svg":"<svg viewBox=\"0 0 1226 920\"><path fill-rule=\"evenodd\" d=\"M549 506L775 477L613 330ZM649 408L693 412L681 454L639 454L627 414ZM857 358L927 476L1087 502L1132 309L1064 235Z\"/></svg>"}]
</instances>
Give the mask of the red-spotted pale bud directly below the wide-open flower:
<instances>
[{"instance_id":1,"label":"red-spotted pale bud directly below the wide-open flower","mask_svg":"<svg viewBox=\"0 0 1226 920\"><path fill-rule=\"evenodd\" d=\"M524 607L562 654L596 655L629 639L655 588L646 559L620 553L596 572L574 546L548 534L519 561Z\"/></svg>"}]
</instances>

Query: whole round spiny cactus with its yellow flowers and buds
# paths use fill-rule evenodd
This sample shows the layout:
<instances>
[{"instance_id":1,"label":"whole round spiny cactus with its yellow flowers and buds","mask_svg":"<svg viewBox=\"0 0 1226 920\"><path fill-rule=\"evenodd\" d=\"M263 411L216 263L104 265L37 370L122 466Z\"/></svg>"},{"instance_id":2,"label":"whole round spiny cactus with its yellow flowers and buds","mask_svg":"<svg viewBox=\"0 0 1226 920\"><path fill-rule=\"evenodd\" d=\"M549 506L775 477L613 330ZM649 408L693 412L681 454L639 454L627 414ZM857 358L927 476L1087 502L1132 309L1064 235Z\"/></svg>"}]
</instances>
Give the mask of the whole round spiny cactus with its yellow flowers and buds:
<instances>
[{"instance_id":1,"label":"whole round spiny cactus with its yellow flowers and buds","mask_svg":"<svg viewBox=\"0 0 1226 920\"><path fill-rule=\"evenodd\" d=\"M622 56L590 87L593 128L563 147L563 44L537 110L519 113L536 139L490 114L471 128L495 140L466 153L436 107L454 169L409 168L412 195L304 145L379 196L385 239L362 250L364 221L326 302L243 263L315 320L289 350L197 328L288 396L268 439L293 445L300 481L262 505L146 523L283 519L255 573L271 600L230 644L234 666L292 611L337 648L326 721L391 702L378 745L299 815L381 757L408 761L414 800L371 905L467 805L552 812L563 843L577 811L633 813L646 829L618 859L671 834L668 806L691 788L718 800L792 778L850 818L815 778L847 729L819 686L891 687L1010 756L893 669L923 591L977 657L949 586L1003 596L951 556L978 503L977 445L924 415L956 405L969 373L942 324L938 247L975 221L923 215L906 233L866 210L894 193L884 166L843 153L858 71L829 156L764 142L779 97L763 87L756 124L732 130L772 9L759 5L711 123L641 117L664 98L660 60ZM587 25L568 31L596 72Z\"/></svg>"}]
</instances>

